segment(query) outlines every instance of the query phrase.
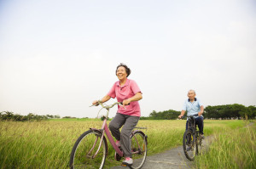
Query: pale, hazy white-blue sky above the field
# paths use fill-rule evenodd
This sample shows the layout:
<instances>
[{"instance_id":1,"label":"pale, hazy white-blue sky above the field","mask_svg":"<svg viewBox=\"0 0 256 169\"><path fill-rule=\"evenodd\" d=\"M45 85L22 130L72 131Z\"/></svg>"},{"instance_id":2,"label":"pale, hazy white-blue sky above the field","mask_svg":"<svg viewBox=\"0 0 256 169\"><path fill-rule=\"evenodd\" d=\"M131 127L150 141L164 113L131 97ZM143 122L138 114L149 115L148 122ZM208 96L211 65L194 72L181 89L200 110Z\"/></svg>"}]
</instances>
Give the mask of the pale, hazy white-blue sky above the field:
<instances>
[{"instance_id":1,"label":"pale, hazy white-blue sky above the field","mask_svg":"<svg viewBox=\"0 0 256 169\"><path fill-rule=\"evenodd\" d=\"M119 63L143 116L180 111L189 89L256 105L255 47L254 0L0 0L0 112L94 118Z\"/></svg>"}]
</instances>

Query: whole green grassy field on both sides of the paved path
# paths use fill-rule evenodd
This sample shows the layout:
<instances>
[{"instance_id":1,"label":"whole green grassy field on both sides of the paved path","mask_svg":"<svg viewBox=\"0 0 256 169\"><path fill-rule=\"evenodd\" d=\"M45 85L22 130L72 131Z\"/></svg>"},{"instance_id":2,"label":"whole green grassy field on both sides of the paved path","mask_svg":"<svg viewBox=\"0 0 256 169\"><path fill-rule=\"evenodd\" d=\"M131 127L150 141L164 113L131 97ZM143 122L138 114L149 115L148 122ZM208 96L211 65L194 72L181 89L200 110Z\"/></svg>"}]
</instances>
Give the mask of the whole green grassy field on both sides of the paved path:
<instances>
[{"instance_id":1,"label":"whole green grassy field on both sides of the paved path","mask_svg":"<svg viewBox=\"0 0 256 169\"><path fill-rule=\"evenodd\" d=\"M144 130L148 135L148 155L181 145L185 122L139 121L137 126L148 127ZM235 149L238 155L241 151L243 152L241 154L243 158L241 158L241 156L233 156L235 154L233 151L222 148L224 154L230 154L230 160L225 162L235 162L237 166L242 166L241 161L236 160L238 158L247 161L249 163L247 166L252 166L255 165L255 162L253 163L255 161L255 126L254 128L244 126L244 121L206 120L204 131L206 135L214 135L216 138L212 149L217 149L216 146L219 144L224 144L221 147L225 147L231 143L230 149ZM0 121L0 168L67 168L73 144L90 127L100 128L102 121ZM243 134L242 137L241 134ZM235 139L237 137L239 139ZM247 139L244 139L246 137ZM237 145L240 145L240 149L236 149ZM244 154L243 149L248 149L248 146L253 149L253 153ZM219 152L219 150L216 151ZM212 168L210 167L211 161L216 161L217 165L219 161L222 161L218 158L226 158L219 157L216 153L203 155L205 159L201 157L196 159L196 166ZM113 149L108 146L106 168L120 164L114 161L113 155ZM233 166L215 168L233 168Z\"/></svg>"}]
</instances>

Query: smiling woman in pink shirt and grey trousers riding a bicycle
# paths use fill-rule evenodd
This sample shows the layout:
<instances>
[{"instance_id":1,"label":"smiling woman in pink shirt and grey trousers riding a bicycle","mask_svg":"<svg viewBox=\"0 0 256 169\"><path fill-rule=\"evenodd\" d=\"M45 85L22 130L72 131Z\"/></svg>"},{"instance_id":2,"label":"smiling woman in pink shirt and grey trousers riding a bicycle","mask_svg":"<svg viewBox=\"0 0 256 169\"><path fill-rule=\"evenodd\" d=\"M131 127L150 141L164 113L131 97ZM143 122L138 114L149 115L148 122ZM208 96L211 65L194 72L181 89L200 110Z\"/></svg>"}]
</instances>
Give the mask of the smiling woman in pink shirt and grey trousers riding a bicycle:
<instances>
[{"instance_id":1,"label":"smiling woman in pink shirt and grey trousers riding a bicycle","mask_svg":"<svg viewBox=\"0 0 256 169\"><path fill-rule=\"evenodd\" d=\"M127 65L119 64L115 73L119 81L113 84L113 87L101 101L104 103L110 98L116 98L118 102L123 102L122 106L118 106L116 115L109 123L109 129L113 137L117 140L116 144L124 151L125 161L123 161L122 164L131 166L133 161L131 159L130 135L141 116L138 100L143 99L143 95L137 83L131 79L127 79L131 74L131 70ZM98 101L94 101L92 104L97 104L97 102ZM122 126L122 131L119 132L119 128Z\"/></svg>"}]
</instances>

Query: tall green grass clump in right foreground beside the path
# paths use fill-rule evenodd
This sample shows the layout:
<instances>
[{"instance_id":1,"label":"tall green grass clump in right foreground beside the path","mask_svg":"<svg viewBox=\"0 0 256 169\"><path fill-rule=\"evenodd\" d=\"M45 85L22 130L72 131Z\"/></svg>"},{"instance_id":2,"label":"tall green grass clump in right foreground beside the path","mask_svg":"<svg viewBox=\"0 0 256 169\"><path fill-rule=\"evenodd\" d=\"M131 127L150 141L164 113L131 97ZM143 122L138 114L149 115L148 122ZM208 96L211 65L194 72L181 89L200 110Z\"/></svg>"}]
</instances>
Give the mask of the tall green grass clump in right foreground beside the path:
<instances>
[{"instance_id":1,"label":"tall green grass clump in right foreground beside the path","mask_svg":"<svg viewBox=\"0 0 256 169\"><path fill-rule=\"evenodd\" d=\"M256 168L256 126L224 128L214 134L214 142L205 155L196 159L196 168ZM236 129L234 129L236 128Z\"/></svg>"}]
</instances>

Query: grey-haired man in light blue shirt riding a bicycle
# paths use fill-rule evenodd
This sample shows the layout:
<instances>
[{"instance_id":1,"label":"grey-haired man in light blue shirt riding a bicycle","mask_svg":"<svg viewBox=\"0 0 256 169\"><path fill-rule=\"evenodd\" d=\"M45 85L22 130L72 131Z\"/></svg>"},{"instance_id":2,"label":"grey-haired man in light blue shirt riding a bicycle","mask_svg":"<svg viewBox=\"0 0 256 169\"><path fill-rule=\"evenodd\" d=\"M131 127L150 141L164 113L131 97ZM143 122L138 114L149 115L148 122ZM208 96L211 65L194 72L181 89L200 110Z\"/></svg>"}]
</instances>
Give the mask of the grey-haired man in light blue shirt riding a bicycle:
<instances>
[{"instance_id":1,"label":"grey-haired man in light blue shirt riding a bicycle","mask_svg":"<svg viewBox=\"0 0 256 169\"><path fill-rule=\"evenodd\" d=\"M199 128L199 132L201 133L201 138L205 138L204 137L204 117L202 116L203 112L204 112L204 106L203 104L201 104L201 101L197 98L195 98L196 94L195 94L195 90L189 90L188 92L188 97L189 99L186 99L184 104L183 104L183 110L181 111L181 114L178 115L178 118L181 118L185 112L187 111L187 115L198 115L195 118L195 124L198 126ZM186 123L186 130L188 130L188 121Z\"/></svg>"}]
</instances>

